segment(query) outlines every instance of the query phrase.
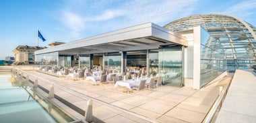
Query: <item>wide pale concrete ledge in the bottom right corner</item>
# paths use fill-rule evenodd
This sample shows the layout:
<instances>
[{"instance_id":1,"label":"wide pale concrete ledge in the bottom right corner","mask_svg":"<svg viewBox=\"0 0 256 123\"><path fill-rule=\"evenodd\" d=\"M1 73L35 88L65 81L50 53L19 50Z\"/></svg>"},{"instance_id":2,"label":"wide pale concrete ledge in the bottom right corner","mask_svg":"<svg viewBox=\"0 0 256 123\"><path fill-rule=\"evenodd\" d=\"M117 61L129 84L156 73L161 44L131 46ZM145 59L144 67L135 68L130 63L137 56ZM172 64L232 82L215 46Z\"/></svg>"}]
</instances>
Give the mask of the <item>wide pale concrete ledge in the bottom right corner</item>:
<instances>
[{"instance_id":1,"label":"wide pale concrete ledge in the bottom right corner","mask_svg":"<svg viewBox=\"0 0 256 123\"><path fill-rule=\"evenodd\" d=\"M236 70L216 122L256 122L256 74Z\"/></svg>"}]
</instances>

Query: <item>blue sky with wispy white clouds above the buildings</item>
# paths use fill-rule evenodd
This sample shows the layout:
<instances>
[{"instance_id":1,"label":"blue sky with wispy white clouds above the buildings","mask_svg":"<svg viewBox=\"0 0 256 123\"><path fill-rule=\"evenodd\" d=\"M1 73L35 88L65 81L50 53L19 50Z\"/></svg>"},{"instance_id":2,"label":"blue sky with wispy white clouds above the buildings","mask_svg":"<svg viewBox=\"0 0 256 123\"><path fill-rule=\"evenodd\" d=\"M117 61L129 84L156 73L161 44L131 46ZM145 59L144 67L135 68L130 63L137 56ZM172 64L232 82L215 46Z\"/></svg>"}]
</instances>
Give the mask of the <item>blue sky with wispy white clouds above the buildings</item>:
<instances>
[{"instance_id":1,"label":"blue sky with wispy white clouds above the buildings","mask_svg":"<svg viewBox=\"0 0 256 123\"><path fill-rule=\"evenodd\" d=\"M0 59L18 45L69 42L152 22L160 26L195 14L223 12L256 26L256 0L1 0Z\"/></svg>"}]
</instances>

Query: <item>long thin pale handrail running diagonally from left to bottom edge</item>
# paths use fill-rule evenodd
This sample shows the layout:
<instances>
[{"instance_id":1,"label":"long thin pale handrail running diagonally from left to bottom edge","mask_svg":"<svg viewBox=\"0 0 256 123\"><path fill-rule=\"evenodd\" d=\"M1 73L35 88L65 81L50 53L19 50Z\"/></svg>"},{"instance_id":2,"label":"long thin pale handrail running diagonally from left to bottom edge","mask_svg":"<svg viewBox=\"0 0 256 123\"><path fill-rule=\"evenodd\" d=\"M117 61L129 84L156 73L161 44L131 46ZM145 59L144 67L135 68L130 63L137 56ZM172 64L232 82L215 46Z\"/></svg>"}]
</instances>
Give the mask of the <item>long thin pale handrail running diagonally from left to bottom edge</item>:
<instances>
[{"instance_id":1,"label":"long thin pale handrail running diagonally from left to bottom edge","mask_svg":"<svg viewBox=\"0 0 256 123\"><path fill-rule=\"evenodd\" d=\"M25 73L25 74L27 74L27 75L34 76L34 75L31 75L31 74L28 74L27 72L24 72L23 70L19 70L19 71L21 71L21 72L23 72L23 73ZM105 106L108 106L108 107L110 107L110 108L115 108L116 110L120 110L121 112L125 112L125 113L127 113L127 114L131 114L132 116L136 116L137 118L141 118L141 119L146 120L146 121L148 121L148 122L158 123L158 121L156 121L156 120L152 120L152 119L147 118L147 117L145 117L145 116L141 116L141 115L139 115L139 114L135 114L135 113L133 113L133 112L130 112L130 111L128 111L128 110L125 110L124 108L120 108L120 107L114 106L114 105L112 105L112 104L108 104L108 103L106 103L106 102L102 102L101 100L98 100L98 99L96 99L96 98L93 98L93 97L90 97L90 96L86 96L85 94L82 94L82 93L77 92L77 91L75 91L75 90L71 90L71 89L69 89L69 88L65 88L65 87L60 86L59 84L57 84L57 83L55 83L55 82L51 82L51 81L46 80L46 79L44 79L44 78L40 78L39 76L34 76L34 78L38 78L38 79L40 79L40 80L44 80L45 82L47 82L47 83L49 83L49 84L54 84L55 86L57 86L58 88L61 88L62 90L65 90L65 91L67 91L67 92L71 92L71 93L73 93L73 94L77 94L77 95L82 96L82 97L84 97L84 98L88 98L88 99L90 99L90 100L92 100L92 101L94 101L94 102L98 102L98 103L100 103L100 104L104 104Z\"/></svg>"}]
</instances>

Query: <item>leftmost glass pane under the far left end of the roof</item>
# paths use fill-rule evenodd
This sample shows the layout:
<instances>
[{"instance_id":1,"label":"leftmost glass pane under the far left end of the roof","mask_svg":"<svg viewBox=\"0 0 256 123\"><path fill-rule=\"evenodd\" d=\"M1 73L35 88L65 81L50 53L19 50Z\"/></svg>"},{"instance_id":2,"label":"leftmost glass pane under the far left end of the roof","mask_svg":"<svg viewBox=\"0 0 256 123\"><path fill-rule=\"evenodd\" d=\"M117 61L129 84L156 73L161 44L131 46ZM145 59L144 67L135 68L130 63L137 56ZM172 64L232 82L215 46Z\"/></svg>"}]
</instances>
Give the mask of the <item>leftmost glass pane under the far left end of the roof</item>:
<instances>
[{"instance_id":1,"label":"leftmost glass pane under the far left end of the roof","mask_svg":"<svg viewBox=\"0 0 256 123\"><path fill-rule=\"evenodd\" d=\"M36 64L57 66L59 52L44 53L36 55Z\"/></svg>"}]
</instances>

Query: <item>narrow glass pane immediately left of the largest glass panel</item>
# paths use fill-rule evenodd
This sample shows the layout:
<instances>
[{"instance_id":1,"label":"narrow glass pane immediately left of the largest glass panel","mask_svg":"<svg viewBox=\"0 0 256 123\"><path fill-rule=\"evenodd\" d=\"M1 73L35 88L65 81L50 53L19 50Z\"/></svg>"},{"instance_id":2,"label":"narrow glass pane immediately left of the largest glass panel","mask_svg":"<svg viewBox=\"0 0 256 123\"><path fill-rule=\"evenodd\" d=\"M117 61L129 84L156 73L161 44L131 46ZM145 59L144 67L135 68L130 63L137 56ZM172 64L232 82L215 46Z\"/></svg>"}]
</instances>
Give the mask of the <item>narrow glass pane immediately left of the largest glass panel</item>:
<instances>
[{"instance_id":1,"label":"narrow glass pane immediately left of the largest glass panel","mask_svg":"<svg viewBox=\"0 0 256 123\"><path fill-rule=\"evenodd\" d=\"M150 49L148 52L150 70L148 76L155 77L158 74L158 49Z\"/></svg>"}]
</instances>

